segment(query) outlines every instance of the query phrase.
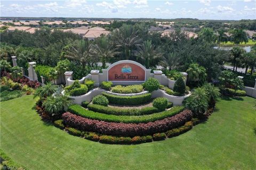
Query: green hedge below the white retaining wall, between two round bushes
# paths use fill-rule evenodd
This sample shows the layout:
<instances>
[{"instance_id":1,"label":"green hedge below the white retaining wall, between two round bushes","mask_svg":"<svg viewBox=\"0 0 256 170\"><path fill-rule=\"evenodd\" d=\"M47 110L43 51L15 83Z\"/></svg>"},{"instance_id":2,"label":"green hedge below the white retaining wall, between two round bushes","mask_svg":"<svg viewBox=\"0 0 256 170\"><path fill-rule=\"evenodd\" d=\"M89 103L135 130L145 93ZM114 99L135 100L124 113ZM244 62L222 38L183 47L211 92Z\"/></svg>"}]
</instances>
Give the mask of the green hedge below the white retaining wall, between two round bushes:
<instances>
[{"instance_id":1,"label":"green hedge below the white retaining wall, between two round bushes","mask_svg":"<svg viewBox=\"0 0 256 170\"><path fill-rule=\"evenodd\" d=\"M118 96L102 92L103 96L108 98L109 103L118 105L140 105L148 103L151 100L151 94L142 94L136 96Z\"/></svg>"}]
</instances>

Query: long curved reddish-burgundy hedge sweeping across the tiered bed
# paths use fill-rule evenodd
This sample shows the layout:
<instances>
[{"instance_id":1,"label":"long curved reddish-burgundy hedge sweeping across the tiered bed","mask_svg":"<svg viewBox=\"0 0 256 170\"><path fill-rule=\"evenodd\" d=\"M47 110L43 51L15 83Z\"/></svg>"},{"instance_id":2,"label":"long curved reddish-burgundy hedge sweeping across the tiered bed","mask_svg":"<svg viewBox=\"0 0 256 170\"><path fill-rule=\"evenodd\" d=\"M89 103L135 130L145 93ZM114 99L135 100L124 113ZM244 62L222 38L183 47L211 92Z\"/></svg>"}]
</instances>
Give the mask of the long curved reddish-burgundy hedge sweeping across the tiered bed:
<instances>
[{"instance_id":1,"label":"long curved reddish-burgundy hedge sweeping across the tiered bed","mask_svg":"<svg viewBox=\"0 0 256 170\"><path fill-rule=\"evenodd\" d=\"M93 131L108 135L122 135L123 137L134 137L137 135L148 135L177 128L191 120L192 112L185 110L172 117L164 118L161 121L149 123L111 123L98 120L91 120L66 112L62 114L63 122L67 126L82 130Z\"/></svg>"}]
</instances>

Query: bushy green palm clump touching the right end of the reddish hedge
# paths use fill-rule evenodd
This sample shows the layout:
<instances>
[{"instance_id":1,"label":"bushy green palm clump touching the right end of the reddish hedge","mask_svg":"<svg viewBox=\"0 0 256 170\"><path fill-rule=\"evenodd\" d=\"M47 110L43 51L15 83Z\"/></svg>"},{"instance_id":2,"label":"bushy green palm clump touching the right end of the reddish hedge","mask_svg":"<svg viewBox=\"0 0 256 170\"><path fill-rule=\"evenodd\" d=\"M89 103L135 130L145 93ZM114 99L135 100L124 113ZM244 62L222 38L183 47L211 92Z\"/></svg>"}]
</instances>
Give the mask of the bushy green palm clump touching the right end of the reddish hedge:
<instances>
[{"instance_id":1,"label":"bushy green palm clump touching the right end of the reddish hedge","mask_svg":"<svg viewBox=\"0 0 256 170\"><path fill-rule=\"evenodd\" d=\"M184 100L185 106L193 111L198 117L202 117L206 112L209 104L209 96L205 88L196 88L191 96Z\"/></svg>"}]
</instances>

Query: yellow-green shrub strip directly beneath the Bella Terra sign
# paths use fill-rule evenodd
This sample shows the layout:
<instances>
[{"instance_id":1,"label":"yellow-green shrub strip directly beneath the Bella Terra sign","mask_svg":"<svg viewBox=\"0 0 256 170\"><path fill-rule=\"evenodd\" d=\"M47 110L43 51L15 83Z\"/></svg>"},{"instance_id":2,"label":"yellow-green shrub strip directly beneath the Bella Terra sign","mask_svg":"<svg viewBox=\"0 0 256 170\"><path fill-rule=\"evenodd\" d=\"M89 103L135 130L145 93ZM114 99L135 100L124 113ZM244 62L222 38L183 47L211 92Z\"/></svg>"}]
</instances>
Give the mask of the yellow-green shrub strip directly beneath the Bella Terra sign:
<instances>
[{"instance_id":1,"label":"yellow-green shrub strip directly beneath the Bella Terra sign","mask_svg":"<svg viewBox=\"0 0 256 170\"><path fill-rule=\"evenodd\" d=\"M116 92L118 94L135 94L138 92L142 92L143 91L143 86L141 84L137 85L131 85L131 86L114 86L113 88L111 88L112 92Z\"/></svg>"}]
</instances>

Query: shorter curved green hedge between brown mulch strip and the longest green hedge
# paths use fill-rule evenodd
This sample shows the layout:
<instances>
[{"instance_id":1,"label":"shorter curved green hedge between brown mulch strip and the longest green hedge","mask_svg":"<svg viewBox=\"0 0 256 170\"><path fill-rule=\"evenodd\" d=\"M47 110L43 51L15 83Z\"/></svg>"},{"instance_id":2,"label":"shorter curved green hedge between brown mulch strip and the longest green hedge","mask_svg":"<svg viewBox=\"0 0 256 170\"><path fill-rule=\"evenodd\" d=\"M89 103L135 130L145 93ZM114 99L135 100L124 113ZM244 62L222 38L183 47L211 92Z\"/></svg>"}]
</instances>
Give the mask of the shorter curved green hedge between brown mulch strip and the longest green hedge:
<instances>
[{"instance_id":1,"label":"shorter curved green hedge between brown mulch strip and the longest green hedge","mask_svg":"<svg viewBox=\"0 0 256 170\"><path fill-rule=\"evenodd\" d=\"M115 108L115 107L107 107L107 106L101 106L101 105L87 105L90 111L99 112L99 113L105 113L109 115L149 115L153 113L159 112L159 110L155 107L145 107L141 109L121 109L121 108Z\"/></svg>"}]
</instances>

